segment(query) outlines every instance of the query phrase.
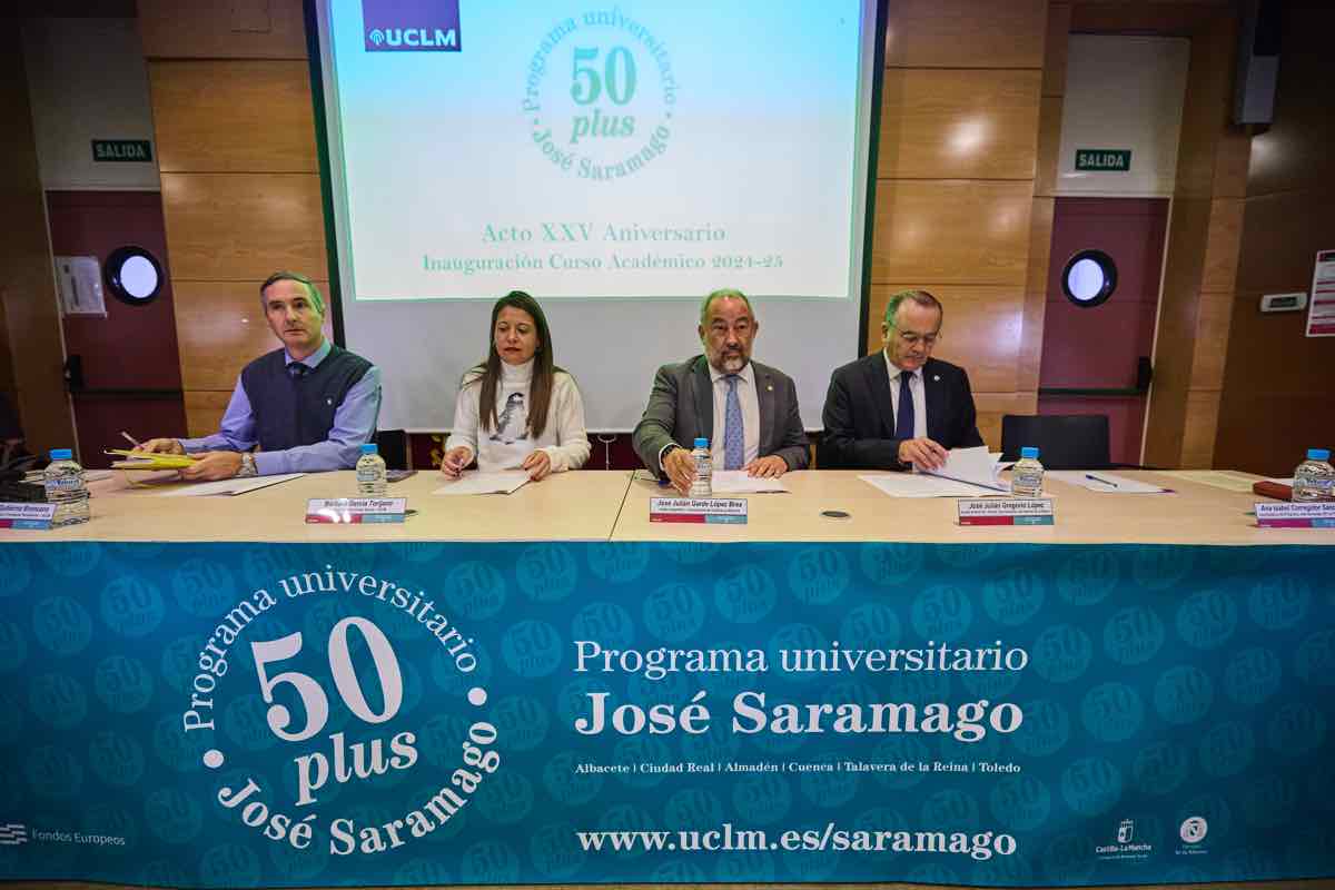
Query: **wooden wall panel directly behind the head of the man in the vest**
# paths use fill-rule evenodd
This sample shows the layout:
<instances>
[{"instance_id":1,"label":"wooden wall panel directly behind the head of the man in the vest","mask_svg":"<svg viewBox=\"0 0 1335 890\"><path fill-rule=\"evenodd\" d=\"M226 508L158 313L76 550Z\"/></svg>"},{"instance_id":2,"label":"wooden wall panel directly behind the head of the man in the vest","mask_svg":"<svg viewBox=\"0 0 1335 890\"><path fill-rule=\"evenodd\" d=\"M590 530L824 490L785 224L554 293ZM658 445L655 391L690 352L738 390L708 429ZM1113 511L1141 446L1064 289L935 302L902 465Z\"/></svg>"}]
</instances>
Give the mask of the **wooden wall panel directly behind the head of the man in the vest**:
<instances>
[{"instance_id":1,"label":"wooden wall panel directly behind the head of the man in the vest","mask_svg":"<svg viewBox=\"0 0 1335 890\"><path fill-rule=\"evenodd\" d=\"M252 358L279 347L260 308L259 286L254 282L176 282L176 338L183 363L186 390L231 392L236 374ZM315 282L328 294L327 282ZM324 334L332 335L330 319Z\"/></svg>"}]
</instances>

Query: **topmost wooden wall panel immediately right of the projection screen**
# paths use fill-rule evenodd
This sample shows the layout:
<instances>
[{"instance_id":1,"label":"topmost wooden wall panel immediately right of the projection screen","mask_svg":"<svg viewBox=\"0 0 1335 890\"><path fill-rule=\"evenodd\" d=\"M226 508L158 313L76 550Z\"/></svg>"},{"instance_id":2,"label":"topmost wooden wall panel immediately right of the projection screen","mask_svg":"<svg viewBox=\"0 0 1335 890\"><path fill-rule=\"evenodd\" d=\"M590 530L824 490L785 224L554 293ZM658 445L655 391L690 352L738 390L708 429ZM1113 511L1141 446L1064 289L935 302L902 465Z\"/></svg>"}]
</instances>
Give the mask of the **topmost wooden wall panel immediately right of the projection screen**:
<instances>
[{"instance_id":1,"label":"topmost wooden wall panel immediately right of the projection screen","mask_svg":"<svg viewBox=\"0 0 1335 890\"><path fill-rule=\"evenodd\" d=\"M1047 0L894 0L892 68L1043 68Z\"/></svg>"}]
</instances>

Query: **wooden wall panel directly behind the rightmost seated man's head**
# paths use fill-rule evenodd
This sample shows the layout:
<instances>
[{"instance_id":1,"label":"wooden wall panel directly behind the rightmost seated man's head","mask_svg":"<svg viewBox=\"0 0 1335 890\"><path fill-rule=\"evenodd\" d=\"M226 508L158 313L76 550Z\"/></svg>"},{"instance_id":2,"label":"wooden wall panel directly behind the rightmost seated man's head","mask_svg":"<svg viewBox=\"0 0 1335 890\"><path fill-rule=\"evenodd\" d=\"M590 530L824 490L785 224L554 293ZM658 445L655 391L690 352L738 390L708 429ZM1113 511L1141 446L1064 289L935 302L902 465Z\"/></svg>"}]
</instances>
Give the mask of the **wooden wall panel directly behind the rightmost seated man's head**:
<instances>
[{"instance_id":1,"label":"wooden wall panel directly behind the rightmost seated man's head","mask_svg":"<svg viewBox=\"0 0 1335 890\"><path fill-rule=\"evenodd\" d=\"M975 391L1013 392L1017 388L1015 358L1020 350L1024 316L1023 288L922 282L873 284L866 326L868 352L882 346L881 319L885 318L886 300L909 288L929 291L945 307L941 342L933 352L936 358L953 362L968 371ZM876 319L874 324L870 323L872 319Z\"/></svg>"}]
</instances>

